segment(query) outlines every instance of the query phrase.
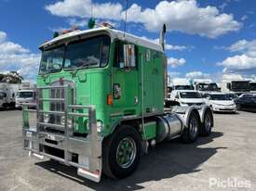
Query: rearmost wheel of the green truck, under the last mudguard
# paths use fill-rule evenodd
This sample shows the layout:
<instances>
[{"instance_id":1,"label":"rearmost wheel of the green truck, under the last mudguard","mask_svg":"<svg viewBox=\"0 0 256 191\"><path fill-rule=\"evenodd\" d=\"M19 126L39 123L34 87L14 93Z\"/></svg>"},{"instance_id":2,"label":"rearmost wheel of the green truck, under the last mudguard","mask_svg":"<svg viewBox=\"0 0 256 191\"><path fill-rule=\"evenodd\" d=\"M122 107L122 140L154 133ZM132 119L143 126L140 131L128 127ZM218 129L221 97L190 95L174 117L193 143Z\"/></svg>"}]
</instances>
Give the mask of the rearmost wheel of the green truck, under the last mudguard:
<instances>
[{"instance_id":1,"label":"rearmost wheel of the green truck, under the last mudguard","mask_svg":"<svg viewBox=\"0 0 256 191\"><path fill-rule=\"evenodd\" d=\"M211 129L213 127L213 115L210 109L205 111L204 120L201 124L200 135L201 136L209 136L211 134Z\"/></svg>"}]
</instances>

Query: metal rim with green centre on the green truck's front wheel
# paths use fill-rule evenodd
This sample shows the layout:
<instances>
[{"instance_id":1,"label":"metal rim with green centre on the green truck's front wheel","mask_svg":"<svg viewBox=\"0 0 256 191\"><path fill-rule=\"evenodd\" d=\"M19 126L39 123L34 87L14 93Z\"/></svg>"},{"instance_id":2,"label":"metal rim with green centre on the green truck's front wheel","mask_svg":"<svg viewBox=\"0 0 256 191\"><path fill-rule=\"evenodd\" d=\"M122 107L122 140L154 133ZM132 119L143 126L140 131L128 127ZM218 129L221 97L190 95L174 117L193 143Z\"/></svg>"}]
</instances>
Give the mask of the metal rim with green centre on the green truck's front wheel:
<instances>
[{"instance_id":1,"label":"metal rim with green centre on the green truck's front wheel","mask_svg":"<svg viewBox=\"0 0 256 191\"><path fill-rule=\"evenodd\" d=\"M116 161L124 169L128 168L135 160L137 146L131 137L123 138L116 149Z\"/></svg>"}]
</instances>

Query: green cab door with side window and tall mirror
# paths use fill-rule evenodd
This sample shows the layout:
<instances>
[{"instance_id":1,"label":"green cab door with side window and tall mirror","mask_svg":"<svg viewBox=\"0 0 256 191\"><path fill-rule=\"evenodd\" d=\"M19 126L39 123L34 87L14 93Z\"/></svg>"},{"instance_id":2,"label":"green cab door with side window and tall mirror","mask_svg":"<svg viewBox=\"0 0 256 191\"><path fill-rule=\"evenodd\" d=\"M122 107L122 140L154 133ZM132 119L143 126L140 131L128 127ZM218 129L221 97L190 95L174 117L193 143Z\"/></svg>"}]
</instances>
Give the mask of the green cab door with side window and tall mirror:
<instances>
[{"instance_id":1,"label":"green cab door with side window and tall mirror","mask_svg":"<svg viewBox=\"0 0 256 191\"><path fill-rule=\"evenodd\" d=\"M122 41L115 42L115 60L113 66L113 98L115 112L123 115L134 115L139 109L139 71L137 63L136 46ZM130 64L126 65L125 51L130 51L133 57Z\"/></svg>"}]
</instances>

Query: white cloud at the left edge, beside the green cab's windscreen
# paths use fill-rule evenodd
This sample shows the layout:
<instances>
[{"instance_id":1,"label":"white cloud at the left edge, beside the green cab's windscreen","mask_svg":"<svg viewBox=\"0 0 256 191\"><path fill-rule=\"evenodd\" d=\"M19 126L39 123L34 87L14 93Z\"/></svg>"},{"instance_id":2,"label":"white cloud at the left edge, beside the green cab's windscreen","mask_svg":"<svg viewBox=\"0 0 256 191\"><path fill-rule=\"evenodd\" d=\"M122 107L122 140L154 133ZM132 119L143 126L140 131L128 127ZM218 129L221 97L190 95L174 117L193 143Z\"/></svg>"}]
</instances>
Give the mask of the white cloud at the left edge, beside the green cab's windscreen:
<instances>
[{"instance_id":1,"label":"white cloud at the left edge, beside the green cab's windscreen","mask_svg":"<svg viewBox=\"0 0 256 191\"><path fill-rule=\"evenodd\" d=\"M33 54L22 45L7 41L7 33L0 32L0 72L18 70L25 78L34 78L40 56Z\"/></svg>"}]
</instances>

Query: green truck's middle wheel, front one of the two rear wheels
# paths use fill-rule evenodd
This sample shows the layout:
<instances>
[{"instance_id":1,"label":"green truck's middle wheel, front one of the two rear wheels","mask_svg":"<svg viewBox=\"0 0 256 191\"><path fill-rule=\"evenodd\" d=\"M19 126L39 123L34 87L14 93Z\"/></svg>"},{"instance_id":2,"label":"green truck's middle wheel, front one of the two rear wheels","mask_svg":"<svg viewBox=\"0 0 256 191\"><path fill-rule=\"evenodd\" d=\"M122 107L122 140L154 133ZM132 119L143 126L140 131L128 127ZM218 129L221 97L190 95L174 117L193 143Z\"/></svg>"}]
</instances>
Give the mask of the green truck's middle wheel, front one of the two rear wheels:
<instances>
[{"instance_id":1,"label":"green truck's middle wheel, front one of the two rear wheels","mask_svg":"<svg viewBox=\"0 0 256 191\"><path fill-rule=\"evenodd\" d=\"M194 143L198 137L199 129L200 129L199 116L195 111L192 111L189 116L188 126L185 127L182 133L182 142Z\"/></svg>"}]
</instances>

